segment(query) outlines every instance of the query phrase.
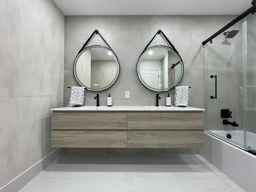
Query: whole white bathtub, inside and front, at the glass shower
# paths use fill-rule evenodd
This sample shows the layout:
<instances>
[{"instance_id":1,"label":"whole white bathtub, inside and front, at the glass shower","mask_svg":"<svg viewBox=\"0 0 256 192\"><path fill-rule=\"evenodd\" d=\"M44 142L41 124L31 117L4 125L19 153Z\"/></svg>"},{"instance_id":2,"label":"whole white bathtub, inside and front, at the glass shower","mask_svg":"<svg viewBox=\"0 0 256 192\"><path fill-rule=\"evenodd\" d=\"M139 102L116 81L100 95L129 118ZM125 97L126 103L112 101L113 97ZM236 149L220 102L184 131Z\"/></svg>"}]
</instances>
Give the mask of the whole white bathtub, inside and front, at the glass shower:
<instances>
[{"instance_id":1,"label":"whole white bathtub, inside and front, at the glass shower","mask_svg":"<svg viewBox=\"0 0 256 192\"><path fill-rule=\"evenodd\" d=\"M227 134L232 137L228 139ZM255 149L255 144L250 142L256 142L256 134L248 133L247 136L248 145ZM246 192L255 192L256 155L245 151L243 146L243 131L204 131L204 147L200 148L200 155Z\"/></svg>"}]
</instances>

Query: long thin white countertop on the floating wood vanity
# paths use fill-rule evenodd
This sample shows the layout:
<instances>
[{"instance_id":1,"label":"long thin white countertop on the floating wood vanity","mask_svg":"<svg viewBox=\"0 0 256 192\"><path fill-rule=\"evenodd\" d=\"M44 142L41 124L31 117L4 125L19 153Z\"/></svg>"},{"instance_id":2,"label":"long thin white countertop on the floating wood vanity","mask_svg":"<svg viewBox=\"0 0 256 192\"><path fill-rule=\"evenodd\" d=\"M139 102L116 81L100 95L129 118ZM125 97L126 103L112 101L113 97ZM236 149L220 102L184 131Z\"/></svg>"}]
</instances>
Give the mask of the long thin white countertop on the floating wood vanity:
<instances>
[{"instance_id":1,"label":"long thin white countertop on the floating wood vanity","mask_svg":"<svg viewBox=\"0 0 256 192\"><path fill-rule=\"evenodd\" d=\"M60 107L51 111L204 111L195 107L166 107L166 106L81 106L81 107Z\"/></svg>"}]
</instances>

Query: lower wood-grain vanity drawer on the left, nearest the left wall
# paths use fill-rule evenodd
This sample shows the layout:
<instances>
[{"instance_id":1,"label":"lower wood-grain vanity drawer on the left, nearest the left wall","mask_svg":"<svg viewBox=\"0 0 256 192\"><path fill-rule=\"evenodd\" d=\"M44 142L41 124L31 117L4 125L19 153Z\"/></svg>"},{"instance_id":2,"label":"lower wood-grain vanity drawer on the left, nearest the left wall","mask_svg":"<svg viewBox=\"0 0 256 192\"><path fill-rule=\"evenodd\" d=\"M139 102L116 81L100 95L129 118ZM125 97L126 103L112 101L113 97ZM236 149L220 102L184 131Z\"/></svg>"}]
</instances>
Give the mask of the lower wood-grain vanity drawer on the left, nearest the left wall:
<instances>
[{"instance_id":1,"label":"lower wood-grain vanity drawer on the left, nearest the left wall","mask_svg":"<svg viewBox=\"0 0 256 192\"><path fill-rule=\"evenodd\" d=\"M126 131L52 131L52 147L127 148Z\"/></svg>"}]
</instances>

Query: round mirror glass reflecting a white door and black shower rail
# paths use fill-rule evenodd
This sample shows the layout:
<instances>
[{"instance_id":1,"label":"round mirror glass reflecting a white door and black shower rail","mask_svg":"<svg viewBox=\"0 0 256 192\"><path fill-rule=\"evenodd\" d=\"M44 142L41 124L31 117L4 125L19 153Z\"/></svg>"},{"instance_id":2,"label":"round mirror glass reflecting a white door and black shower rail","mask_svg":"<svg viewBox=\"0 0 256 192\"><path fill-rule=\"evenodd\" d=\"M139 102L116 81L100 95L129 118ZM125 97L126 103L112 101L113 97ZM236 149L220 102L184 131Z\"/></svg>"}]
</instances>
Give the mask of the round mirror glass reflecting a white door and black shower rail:
<instances>
[{"instance_id":1,"label":"round mirror glass reflecting a white door and black shower rail","mask_svg":"<svg viewBox=\"0 0 256 192\"><path fill-rule=\"evenodd\" d=\"M153 46L140 56L137 73L142 84L150 90L168 91L182 79L183 62L172 48Z\"/></svg>"}]
</instances>

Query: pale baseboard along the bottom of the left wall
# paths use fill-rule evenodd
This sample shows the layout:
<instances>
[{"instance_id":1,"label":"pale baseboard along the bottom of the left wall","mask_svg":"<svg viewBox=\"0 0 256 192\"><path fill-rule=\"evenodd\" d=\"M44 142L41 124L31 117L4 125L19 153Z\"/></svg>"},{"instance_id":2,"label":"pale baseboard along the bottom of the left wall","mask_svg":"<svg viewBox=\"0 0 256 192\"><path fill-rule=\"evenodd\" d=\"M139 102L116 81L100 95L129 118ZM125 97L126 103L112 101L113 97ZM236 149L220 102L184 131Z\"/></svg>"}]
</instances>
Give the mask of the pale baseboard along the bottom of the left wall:
<instances>
[{"instance_id":1,"label":"pale baseboard along the bottom of the left wall","mask_svg":"<svg viewBox=\"0 0 256 192\"><path fill-rule=\"evenodd\" d=\"M0 188L0 192L18 192L28 182L30 182L35 176L37 176L42 170L50 165L56 158L63 153L63 148L57 148L46 157L38 161L36 164L28 168L14 180Z\"/></svg>"}]
</instances>

